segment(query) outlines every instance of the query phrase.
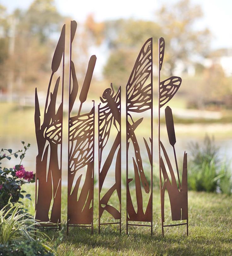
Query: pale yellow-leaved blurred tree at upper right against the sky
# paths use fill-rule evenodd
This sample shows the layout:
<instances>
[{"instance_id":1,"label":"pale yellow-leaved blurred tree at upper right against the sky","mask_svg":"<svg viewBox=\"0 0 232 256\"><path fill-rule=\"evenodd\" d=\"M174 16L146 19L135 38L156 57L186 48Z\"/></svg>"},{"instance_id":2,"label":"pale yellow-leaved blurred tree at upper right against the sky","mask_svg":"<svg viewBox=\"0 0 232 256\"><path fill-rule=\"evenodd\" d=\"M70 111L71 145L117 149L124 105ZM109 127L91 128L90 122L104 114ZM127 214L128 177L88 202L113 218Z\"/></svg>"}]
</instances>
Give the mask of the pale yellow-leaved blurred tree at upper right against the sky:
<instances>
[{"instance_id":1,"label":"pale yellow-leaved blurred tree at upper right against the sky","mask_svg":"<svg viewBox=\"0 0 232 256\"><path fill-rule=\"evenodd\" d=\"M187 65L193 63L193 56L207 55L210 31L194 27L203 17L199 5L192 5L190 0L181 0L173 5L163 6L157 15L167 45L165 63L169 64L170 75L173 75L177 61L181 60Z\"/></svg>"}]
</instances>

